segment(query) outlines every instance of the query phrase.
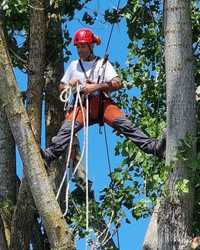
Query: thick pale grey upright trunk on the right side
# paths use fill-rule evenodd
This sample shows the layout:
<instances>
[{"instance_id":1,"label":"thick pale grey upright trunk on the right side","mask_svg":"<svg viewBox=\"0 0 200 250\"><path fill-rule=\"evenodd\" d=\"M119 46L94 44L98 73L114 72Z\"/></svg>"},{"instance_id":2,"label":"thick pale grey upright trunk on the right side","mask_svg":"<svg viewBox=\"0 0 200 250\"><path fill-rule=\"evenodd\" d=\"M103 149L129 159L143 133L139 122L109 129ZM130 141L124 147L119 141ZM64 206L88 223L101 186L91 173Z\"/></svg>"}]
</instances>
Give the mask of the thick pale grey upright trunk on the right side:
<instances>
[{"instance_id":1,"label":"thick pale grey upright trunk on the right side","mask_svg":"<svg viewBox=\"0 0 200 250\"><path fill-rule=\"evenodd\" d=\"M196 108L193 76L192 26L189 0L165 1L165 64L167 81L167 154L172 166L169 197L161 201L158 215L158 249L190 249L193 189L178 193L177 181L189 179L191 160L195 159ZM177 146L186 135L192 136L192 152L176 158Z\"/></svg>"}]
</instances>

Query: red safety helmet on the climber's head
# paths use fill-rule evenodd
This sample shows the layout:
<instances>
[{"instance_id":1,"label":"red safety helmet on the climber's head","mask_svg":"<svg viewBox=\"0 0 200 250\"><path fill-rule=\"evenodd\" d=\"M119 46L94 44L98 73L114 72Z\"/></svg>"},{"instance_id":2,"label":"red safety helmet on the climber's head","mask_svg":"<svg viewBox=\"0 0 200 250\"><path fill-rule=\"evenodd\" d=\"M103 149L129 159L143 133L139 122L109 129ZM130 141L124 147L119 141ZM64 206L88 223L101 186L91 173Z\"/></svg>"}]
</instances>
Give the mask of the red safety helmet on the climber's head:
<instances>
[{"instance_id":1,"label":"red safety helmet on the climber's head","mask_svg":"<svg viewBox=\"0 0 200 250\"><path fill-rule=\"evenodd\" d=\"M80 43L96 43L99 45L101 43L101 39L94 35L90 29L80 29L76 31L74 35L74 45L77 46Z\"/></svg>"}]
</instances>

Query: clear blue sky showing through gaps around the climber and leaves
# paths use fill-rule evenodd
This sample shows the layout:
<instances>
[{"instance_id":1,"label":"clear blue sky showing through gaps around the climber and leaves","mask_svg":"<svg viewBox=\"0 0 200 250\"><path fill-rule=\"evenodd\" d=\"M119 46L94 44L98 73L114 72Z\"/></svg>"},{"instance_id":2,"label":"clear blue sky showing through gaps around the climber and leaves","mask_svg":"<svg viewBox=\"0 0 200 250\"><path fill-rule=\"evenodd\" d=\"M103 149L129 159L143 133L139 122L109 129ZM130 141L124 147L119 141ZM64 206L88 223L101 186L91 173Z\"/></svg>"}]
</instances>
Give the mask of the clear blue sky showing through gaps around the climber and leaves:
<instances>
[{"instance_id":1,"label":"clear blue sky showing through gaps around the climber and leaves","mask_svg":"<svg viewBox=\"0 0 200 250\"><path fill-rule=\"evenodd\" d=\"M100 4L101 3L101 4ZM121 1L121 6L124 6L126 0ZM89 9L85 11L90 12L90 10L97 10L98 13L103 13L105 9L114 8L117 6L117 0L92 0L88 5ZM108 41L109 32L111 25L102 24L101 21L103 17L99 14L98 22L92 26L94 33L99 35L102 39L102 44L98 46L95 50L96 54L103 56L105 53L106 43ZM71 35L74 32L83 27L78 20L73 20L68 24L68 29ZM89 26L86 26L89 27ZM112 62L118 61L122 67L126 67L127 60L127 46L128 46L128 36L127 28L124 21L119 25L116 25L111 39L111 44L109 47L109 60ZM69 46L72 51L71 60L77 58L77 53L73 45ZM67 67L68 64L65 65ZM19 84L20 89L26 88L27 78L24 74L15 70L16 78ZM130 92L134 94L134 92ZM113 135L112 129L106 126L108 144L109 144L109 154L111 158L112 168L118 167L122 160L121 157L114 155L114 148L119 140L119 137ZM81 133L80 133L81 134ZM82 137L82 136L81 136ZM18 174L21 176L21 163L19 155L18 159ZM95 195L98 198L99 191L103 189L108 183L108 164L106 158L106 148L104 135L99 134L98 125L94 125L89 129L89 178L93 181L93 188L95 190ZM149 219L141 219L135 221L132 219L131 215L129 216L131 224L122 223L122 227L119 230L120 237L120 246L121 250L140 250L142 248L142 242L144 239L145 231L149 222ZM78 250L84 249L84 242L78 242Z\"/></svg>"}]
</instances>

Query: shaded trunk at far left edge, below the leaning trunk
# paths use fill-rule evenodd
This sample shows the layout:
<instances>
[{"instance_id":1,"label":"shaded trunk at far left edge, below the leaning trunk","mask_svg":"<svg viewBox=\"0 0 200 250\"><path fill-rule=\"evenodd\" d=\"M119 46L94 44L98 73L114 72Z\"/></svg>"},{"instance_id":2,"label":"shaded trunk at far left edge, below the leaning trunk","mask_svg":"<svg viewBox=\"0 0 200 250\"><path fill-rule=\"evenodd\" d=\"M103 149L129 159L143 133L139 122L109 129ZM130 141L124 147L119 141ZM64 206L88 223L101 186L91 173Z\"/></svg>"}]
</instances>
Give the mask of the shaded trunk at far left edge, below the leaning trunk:
<instances>
[{"instance_id":1,"label":"shaded trunk at far left edge, below the leaning trunk","mask_svg":"<svg viewBox=\"0 0 200 250\"><path fill-rule=\"evenodd\" d=\"M3 18L3 12L2 12ZM0 203L1 203L1 242L11 237L11 214L16 200L16 160L15 142L3 107L0 103ZM4 204L6 206L4 206ZM9 216L5 216L5 215ZM3 230L4 228L4 230ZM0 243L3 248L2 243ZM2 249L0 247L0 249Z\"/></svg>"}]
</instances>

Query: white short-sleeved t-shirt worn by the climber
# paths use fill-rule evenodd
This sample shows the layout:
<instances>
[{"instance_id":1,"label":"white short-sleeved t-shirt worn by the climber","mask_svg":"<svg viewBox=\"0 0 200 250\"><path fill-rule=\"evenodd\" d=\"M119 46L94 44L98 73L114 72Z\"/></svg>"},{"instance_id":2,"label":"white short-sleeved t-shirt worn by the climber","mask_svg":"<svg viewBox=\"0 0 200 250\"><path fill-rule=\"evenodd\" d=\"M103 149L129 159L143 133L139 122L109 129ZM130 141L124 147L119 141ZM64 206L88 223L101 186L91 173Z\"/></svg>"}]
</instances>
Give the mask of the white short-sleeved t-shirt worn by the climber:
<instances>
[{"instance_id":1,"label":"white short-sleeved t-shirt worn by the climber","mask_svg":"<svg viewBox=\"0 0 200 250\"><path fill-rule=\"evenodd\" d=\"M93 61L81 61L82 65L85 69L87 77L89 77L89 80L92 82L97 83L99 74L101 74L100 81L101 82L110 82L114 77L118 76L117 72L111 65L109 61L106 62L106 64L103 66L102 69L102 63L103 59L99 60L93 60ZM83 70L81 69L79 60L72 61L67 70L65 71L65 74L63 78L61 79L61 82L64 84L68 84L70 80L73 79L79 79L81 84L85 84L86 78ZM93 95L98 95L98 91L94 92Z\"/></svg>"}]
</instances>

